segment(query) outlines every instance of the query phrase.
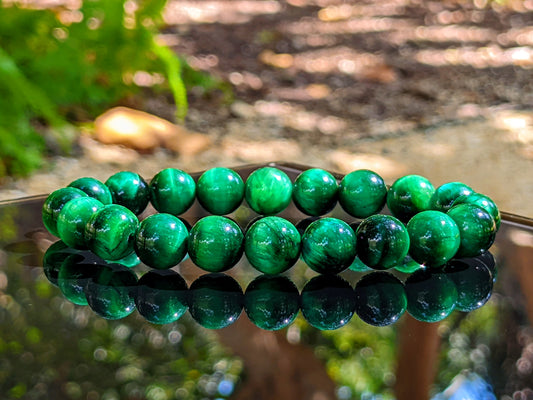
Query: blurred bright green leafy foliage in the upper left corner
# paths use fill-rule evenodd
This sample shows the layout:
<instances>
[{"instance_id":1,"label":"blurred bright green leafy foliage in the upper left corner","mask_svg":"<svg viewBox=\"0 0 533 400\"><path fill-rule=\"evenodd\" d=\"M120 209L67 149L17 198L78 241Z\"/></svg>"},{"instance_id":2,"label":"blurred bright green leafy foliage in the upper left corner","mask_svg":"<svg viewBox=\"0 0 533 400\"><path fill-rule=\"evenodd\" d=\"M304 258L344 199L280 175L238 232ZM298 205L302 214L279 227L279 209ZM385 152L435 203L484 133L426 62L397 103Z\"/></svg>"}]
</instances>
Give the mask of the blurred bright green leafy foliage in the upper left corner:
<instances>
[{"instance_id":1,"label":"blurred bright green leafy foliage in the upper left corner","mask_svg":"<svg viewBox=\"0 0 533 400\"><path fill-rule=\"evenodd\" d=\"M0 0L0 178L40 166L37 123L68 150L66 121L93 118L135 95L139 71L170 89L184 118L182 62L156 40L165 3L89 0L80 9L35 10Z\"/></svg>"}]
</instances>

